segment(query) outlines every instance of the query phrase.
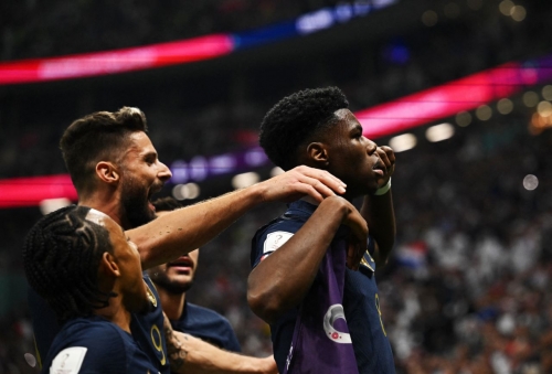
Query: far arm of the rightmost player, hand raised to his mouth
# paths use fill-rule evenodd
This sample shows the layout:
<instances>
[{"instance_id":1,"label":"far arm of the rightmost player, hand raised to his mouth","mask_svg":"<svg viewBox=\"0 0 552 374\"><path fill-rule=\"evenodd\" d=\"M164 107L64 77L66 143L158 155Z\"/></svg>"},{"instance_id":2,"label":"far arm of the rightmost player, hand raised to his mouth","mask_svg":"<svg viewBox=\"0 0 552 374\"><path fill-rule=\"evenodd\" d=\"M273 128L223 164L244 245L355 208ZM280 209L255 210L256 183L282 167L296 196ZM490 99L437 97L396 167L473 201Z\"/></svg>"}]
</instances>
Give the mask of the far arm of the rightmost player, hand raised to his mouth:
<instances>
[{"instance_id":1,"label":"far arm of the rightmost player, hand raised to his mouth","mask_svg":"<svg viewBox=\"0 0 552 374\"><path fill-rule=\"evenodd\" d=\"M390 147L378 147L378 153L386 168L382 185L386 185L395 171L395 153ZM383 194L367 195L361 209L362 216L370 227L370 235L374 238L374 261L378 267L388 263L389 255L395 243L395 212L391 189Z\"/></svg>"}]
</instances>

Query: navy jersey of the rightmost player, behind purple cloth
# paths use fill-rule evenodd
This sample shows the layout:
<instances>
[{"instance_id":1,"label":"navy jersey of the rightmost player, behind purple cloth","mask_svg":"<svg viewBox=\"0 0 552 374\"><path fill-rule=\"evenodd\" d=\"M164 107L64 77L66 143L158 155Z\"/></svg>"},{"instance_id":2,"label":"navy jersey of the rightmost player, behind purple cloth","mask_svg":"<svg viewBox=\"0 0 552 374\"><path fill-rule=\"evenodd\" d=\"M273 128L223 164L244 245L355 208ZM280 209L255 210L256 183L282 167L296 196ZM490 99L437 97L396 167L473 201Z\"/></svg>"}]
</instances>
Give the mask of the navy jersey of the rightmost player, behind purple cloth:
<instances>
[{"instance_id":1,"label":"navy jersey of the rightmost player, behind purple cloth","mask_svg":"<svg viewBox=\"0 0 552 374\"><path fill-rule=\"evenodd\" d=\"M289 204L284 215L259 228L252 241L252 267L284 245L315 211L315 205L296 201ZM380 313L375 264L371 256L373 250L373 239L369 237L360 270L346 270L343 311L359 373L395 373L391 344ZM298 311L295 308L286 312L270 325L274 357L280 372L285 367Z\"/></svg>"}]
</instances>

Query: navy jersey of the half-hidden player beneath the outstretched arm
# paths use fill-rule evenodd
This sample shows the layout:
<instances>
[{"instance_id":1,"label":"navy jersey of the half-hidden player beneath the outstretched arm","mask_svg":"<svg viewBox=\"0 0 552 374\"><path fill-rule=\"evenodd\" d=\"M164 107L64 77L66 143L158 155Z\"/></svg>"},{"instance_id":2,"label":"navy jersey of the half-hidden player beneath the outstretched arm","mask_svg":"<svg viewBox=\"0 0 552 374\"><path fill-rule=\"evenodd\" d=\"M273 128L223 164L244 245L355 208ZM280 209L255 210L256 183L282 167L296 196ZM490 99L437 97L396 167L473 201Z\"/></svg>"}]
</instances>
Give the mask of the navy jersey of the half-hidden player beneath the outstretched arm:
<instances>
[{"instance_id":1,"label":"navy jersey of the half-hidden player beneath the outstretched arm","mask_svg":"<svg viewBox=\"0 0 552 374\"><path fill-rule=\"evenodd\" d=\"M200 338L220 349L241 352L240 342L229 320L214 310L185 301L182 316L171 321L172 329Z\"/></svg>"}]
</instances>

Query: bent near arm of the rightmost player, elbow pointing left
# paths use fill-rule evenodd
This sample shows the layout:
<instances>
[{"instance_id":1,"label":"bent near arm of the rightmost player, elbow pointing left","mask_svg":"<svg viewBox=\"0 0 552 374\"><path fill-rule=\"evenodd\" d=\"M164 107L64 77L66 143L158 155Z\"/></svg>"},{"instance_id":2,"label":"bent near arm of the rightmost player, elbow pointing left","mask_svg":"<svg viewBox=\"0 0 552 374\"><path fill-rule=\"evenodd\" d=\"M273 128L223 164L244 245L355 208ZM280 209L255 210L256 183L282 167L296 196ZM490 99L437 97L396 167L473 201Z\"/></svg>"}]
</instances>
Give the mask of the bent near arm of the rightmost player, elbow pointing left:
<instances>
[{"instance_id":1,"label":"bent near arm of the rightmost player, elbow pointing left","mask_svg":"<svg viewBox=\"0 0 552 374\"><path fill-rule=\"evenodd\" d=\"M250 274L247 301L258 317L272 323L301 302L341 224L351 228L357 243L362 243L352 258L353 267L358 265L367 248L367 222L347 200L328 197L289 241Z\"/></svg>"}]
</instances>

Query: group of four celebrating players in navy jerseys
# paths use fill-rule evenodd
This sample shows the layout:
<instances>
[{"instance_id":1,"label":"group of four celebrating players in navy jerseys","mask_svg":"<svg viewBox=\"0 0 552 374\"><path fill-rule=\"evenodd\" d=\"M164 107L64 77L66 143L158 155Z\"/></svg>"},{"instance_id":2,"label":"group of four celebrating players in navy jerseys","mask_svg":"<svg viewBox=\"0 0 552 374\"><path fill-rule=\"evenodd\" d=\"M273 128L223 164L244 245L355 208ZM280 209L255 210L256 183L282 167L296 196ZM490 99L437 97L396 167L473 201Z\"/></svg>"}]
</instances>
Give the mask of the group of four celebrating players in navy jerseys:
<instances>
[{"instance_id":1,"label":"group of four celebrating players in navy jerseys","mask_svg":"<svg viewBox=\"0 0 552 374\"><path fill-rule=\"evenodd\" d=\"M395 238L395 157L348 105L336 87L283 98L259 143L286 172L185 207L151 201L171 172L141 110L75 120L60 145L78 203L42 217L23 247L42 372L394 373L374 271ZM253 357L185 292L198 248L274 201L291 203L252 233L247 281L274 356Z\"/></svg>"}]
</instances>

